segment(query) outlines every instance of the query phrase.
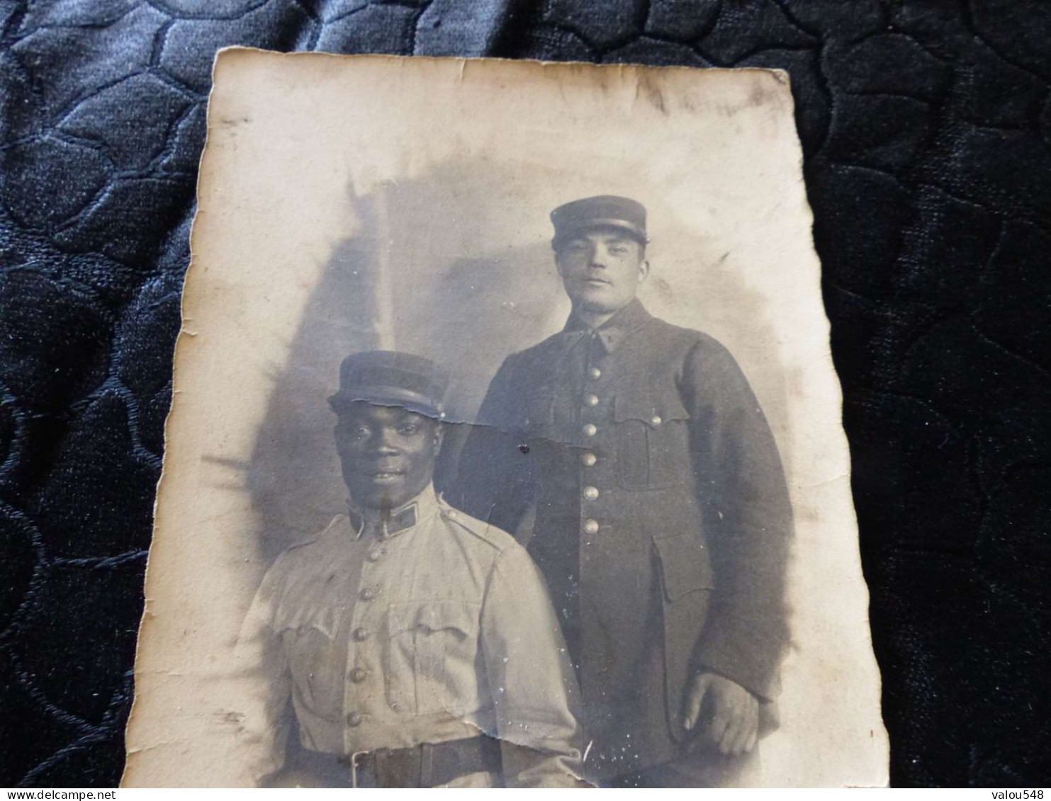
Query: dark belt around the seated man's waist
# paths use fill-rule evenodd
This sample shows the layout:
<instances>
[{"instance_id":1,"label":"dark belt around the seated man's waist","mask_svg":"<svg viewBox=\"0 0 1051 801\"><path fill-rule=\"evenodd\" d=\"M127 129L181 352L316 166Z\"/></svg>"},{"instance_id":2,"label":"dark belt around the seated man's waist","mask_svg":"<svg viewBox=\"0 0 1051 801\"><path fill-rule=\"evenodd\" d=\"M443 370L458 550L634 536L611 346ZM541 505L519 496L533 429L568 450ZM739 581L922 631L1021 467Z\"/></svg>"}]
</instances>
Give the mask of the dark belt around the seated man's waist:
<instances>
[{"instance_id":1,"label":"dark belt around the seated man's waist","mask_svg":"<svg viewBox=\"0 0 1051 801\"><path fill-rule=\"evenodd\" d=\"M377 787L438 787L473 773L498 773L500 743L493 737L425 742L409 749L359 751L339 757L350 766L351 786L363 779Z\"/></svg>"}]
</instances>

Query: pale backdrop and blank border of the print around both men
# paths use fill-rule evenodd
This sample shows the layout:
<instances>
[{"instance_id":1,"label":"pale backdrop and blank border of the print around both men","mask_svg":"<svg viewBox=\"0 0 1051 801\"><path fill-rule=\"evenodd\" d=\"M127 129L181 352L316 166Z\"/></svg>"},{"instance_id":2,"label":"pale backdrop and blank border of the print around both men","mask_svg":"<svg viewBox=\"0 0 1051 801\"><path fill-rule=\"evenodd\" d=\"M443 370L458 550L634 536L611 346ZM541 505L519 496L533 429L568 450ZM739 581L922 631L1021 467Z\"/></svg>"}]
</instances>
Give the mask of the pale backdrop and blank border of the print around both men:
<instances>
[{"instance_id":1,"label":"pale backdrop and blank border of the print around both men","mask_svg":"<svg viewBox=\"0 0 1051 801\"><path fill-rule=\"evenodd\" d=\"M646 206L643 303L729 349L785 464L792 645L762 782L884 784L787 78L232 50L215 79L125 784L247 780L230 653L273 556L345 508L341 359L435 359L470 422L500 361L564 323L548 213L591 194Z\"/></svg>"}]
</instances>

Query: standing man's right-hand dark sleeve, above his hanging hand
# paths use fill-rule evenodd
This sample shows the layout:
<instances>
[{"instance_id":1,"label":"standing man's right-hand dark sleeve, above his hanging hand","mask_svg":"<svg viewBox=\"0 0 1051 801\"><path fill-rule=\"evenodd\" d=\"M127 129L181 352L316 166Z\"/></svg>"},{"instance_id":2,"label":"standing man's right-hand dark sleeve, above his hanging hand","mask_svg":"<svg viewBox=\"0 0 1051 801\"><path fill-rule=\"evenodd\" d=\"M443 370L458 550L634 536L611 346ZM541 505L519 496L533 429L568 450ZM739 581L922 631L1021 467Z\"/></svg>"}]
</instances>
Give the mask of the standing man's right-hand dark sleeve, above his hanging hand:
<instances>
[{"instance_id":1,"label":"standing man's right-hand dark sleeve, above his hanging hand","mask_svg":"<svg viewBox=\"0 0 1051 801\"><path fill-rule=\"evenodd\" d=\"M691 352L681 393L716 575L695 659L770 700L788 640L792 513L781 458L744 374L715 340Z\"/></svg>"}]
</instances>

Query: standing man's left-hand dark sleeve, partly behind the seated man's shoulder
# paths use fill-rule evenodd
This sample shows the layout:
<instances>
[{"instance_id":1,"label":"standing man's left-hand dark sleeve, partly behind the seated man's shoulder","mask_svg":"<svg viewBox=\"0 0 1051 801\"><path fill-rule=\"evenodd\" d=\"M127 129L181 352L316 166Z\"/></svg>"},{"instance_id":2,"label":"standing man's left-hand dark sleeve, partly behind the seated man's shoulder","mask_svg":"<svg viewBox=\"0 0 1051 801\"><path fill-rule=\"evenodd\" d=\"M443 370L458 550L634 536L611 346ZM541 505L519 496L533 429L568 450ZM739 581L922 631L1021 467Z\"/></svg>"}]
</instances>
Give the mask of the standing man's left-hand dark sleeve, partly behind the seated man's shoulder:
<instances>
[{"instance_id":1,"label":"standing man's left-hand dark sleeve, partly behind the seated man's shoulder","mask_svg":"<svg viewBox=\"0 0 1051 801\"><path fill-rule=\"evenodd\" d=\"M515 533L535 496L533 465L519 450L524 428L516 357L509 356L493 380L470 426L457 461L456 477L444 493L473 518Z\"/></svg>"}]
</instances>

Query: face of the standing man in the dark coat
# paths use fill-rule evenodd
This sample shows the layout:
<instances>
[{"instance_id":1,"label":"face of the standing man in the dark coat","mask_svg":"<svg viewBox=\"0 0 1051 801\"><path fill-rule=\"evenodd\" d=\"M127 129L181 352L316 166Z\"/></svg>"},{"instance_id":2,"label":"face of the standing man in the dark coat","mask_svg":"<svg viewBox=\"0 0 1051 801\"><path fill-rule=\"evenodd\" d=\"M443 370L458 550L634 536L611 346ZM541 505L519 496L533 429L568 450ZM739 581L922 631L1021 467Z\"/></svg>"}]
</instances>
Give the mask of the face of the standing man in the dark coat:
<instances>
[{"instance_id":1,"label":"face of the standing man in the dark coat","mask_svg":"<svg viewBox=\"0 0 1051 801\"><path fill-rule=\"evenodd\" d=\"M616 229L578 234L555 254L574 308L609 313L623 309L650 274L645 248Z\"/></svg>"}]
</instances>

